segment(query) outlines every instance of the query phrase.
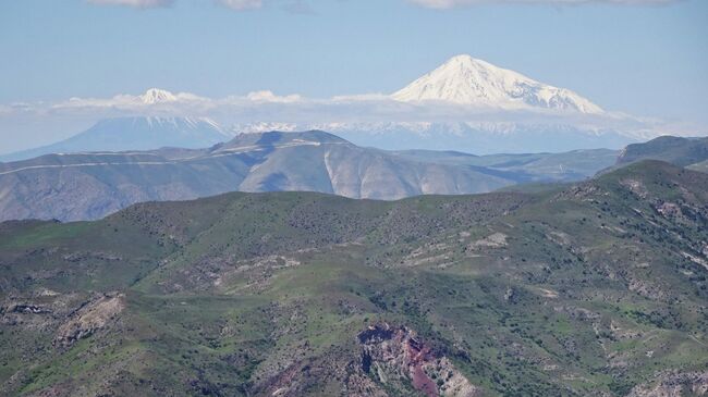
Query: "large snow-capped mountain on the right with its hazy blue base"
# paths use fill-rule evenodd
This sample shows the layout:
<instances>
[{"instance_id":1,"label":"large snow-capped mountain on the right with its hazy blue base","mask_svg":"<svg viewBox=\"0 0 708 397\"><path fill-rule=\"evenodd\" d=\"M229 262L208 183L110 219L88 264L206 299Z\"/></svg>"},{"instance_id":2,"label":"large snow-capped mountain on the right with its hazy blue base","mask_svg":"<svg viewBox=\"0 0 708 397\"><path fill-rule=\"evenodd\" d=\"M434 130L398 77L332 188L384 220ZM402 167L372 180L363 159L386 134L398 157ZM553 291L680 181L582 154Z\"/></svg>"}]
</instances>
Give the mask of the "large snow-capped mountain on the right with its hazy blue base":
<instances>
[{"instance_id":1,"label":"large snow-capped mountain on the right with its hazy blue base","mask_svg":"<svg viewBox=\"0 0 708 397\"><path fill-rule=\"evenodd\" d=\"M359 146L476 154L621 149L656 136L626 127L637 122L607 113L569 89L469 55L450 59L387 98L419 109L420 115L413 121L402 114L400 121L386 122L245 123L233 131L322 129ZM427 113L434 121L425 121Z\"/></svg>"}]
</instances>

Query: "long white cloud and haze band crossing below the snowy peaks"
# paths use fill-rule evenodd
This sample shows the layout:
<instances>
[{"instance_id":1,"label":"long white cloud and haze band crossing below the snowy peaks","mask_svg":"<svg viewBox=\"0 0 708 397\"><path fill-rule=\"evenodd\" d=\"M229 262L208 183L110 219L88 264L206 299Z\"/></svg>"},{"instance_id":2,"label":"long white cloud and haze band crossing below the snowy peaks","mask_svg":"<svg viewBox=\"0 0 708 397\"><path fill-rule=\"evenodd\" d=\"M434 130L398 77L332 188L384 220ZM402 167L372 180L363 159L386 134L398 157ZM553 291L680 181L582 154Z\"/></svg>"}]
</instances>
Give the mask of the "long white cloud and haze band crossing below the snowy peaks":
<instances>
[{"instance_id":1,"label":"long white cloud and haze band crossing below the snowy peaks","mask_svg":"<svg viewBox=\"0 0 708 397\"><path fill-rule=\"evenodd\" d=\"M647 137L667 131L674 135L699 135L695 133L699 131L697 127L612 112L581 114L548 109L504 110L442 102L407 103L392 100L382 94L313 99L300 95L280 96L269 90L227 98L206 98L159 89L150 91L152 92L123 94L111 98L71 98L54 103L0 103L0 131L12 125L22 125L26 121L32 121L36 131L51 129L52 126L60 125L63 125L65 131L69 128L68 123L85 127L102 119L145 115L209 117L222 125L285 123L331 127L346 123L474 122L572 125L590 131L622 131ZM70 129L81 131L77 127L72 128L74 129Z\"/></svg>"}]
</instances>

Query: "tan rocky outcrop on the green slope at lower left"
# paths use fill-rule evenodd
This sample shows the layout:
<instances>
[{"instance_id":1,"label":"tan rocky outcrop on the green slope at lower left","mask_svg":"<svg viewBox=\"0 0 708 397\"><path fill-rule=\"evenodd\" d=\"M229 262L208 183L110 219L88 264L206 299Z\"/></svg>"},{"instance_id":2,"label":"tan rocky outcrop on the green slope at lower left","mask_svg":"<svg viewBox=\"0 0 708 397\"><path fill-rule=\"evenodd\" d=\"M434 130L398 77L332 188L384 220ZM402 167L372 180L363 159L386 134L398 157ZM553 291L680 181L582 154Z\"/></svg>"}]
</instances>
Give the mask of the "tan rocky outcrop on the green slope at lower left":
<instances>
[{"instance_id":1,"label":"tan rocky outcrop on the green slope at lower left","mask_svg":"<svg viewBox=\"0 0 708 397\"><path fill-rule=\"evenodd\" d=\"M107 327L115 321L124 308L125 296L123 294L107 294L88 302L76 310L70 320L59 327L54 337L54 346L70 347L77 340Z\"/></svg>"}]
</instances>

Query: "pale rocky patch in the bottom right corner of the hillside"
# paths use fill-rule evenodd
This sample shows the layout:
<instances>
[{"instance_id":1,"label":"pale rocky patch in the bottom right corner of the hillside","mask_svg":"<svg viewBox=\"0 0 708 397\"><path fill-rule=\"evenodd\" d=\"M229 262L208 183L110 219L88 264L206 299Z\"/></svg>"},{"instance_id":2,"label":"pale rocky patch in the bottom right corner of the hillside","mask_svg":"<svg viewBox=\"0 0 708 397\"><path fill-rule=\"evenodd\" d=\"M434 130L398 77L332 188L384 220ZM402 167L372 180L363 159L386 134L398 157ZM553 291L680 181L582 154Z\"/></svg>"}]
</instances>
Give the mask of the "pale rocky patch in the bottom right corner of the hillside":
<instances>
[{"instance_id":1,"label":"pale rocky patch in the bottom right corner of the hillside","mask_svg":"<svg viewBox=\"0 0 708 397\"><path fill-rule=\"evenodd\" d=\"M663 372L654 382L635 386L627 397L681 397L708 395L708 371Z\"/></svg>"}]
</instances>

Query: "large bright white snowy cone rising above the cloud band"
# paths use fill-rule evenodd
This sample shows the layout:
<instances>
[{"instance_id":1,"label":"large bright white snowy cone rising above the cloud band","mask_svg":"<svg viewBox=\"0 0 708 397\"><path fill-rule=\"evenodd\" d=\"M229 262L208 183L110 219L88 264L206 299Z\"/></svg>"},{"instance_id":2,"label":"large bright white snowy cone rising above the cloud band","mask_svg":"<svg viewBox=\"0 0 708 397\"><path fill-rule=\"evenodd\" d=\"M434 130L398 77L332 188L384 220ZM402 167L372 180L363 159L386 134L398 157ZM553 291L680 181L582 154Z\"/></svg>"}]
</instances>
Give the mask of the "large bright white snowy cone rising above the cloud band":
<instances>
[{"instance_id":1,"label":"large bright white snowy cone rising above the cloud band","mask_svg":"<svg viewBox=\"0 0 708 397\"><path fill-rule=\"evenodd\" d=\"M501 109L602 112L600 107L569 89L536 82L469 55L451 58L391 97L404 102L444 101Z\"/></svg>"}]
</instances>

